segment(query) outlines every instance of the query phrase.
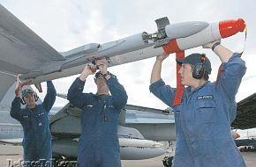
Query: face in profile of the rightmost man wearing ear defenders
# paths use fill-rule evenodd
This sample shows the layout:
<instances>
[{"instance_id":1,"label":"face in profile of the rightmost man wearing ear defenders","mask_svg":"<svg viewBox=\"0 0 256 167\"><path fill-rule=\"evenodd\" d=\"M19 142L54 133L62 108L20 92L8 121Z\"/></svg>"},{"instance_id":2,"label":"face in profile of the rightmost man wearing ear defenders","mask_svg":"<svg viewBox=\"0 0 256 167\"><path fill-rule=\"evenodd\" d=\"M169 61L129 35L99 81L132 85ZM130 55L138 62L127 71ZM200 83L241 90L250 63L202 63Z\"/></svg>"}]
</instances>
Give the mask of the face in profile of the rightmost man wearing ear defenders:
<instances>
[{"instance_id":1,"label":"face in profile of the rightmost man wearing ear defenders","mask_svg":"<svg viewBox=\"0 0 256 167\"><path fill-rule=\"evenodd\" d=\"M178 70L178 74L181 76L181 84L191 86L194 78L192 77L192 65L183 63Z\"/></svg>"}]
</instances>

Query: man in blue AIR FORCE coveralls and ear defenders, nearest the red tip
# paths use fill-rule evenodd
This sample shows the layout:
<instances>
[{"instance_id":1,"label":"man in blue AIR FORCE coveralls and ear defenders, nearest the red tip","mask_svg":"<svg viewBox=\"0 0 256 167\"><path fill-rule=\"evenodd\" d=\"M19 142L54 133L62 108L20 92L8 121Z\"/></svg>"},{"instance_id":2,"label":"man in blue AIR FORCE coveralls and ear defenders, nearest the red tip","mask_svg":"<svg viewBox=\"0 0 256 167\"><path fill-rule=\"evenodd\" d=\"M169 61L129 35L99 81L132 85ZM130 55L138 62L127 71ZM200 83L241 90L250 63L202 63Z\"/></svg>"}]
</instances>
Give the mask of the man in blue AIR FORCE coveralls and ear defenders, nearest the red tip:
<instances>
[{"instance_id":1,"label":"man in blue AIR FORCE coveralls and ear defenders, nearest the red tip","mask_svg":"<svg viewBox=\"0 0 256 167\"><path fill-rule=\"evenodd\" d=\"M177 131L177 146L173 167L244 167L245 162L230 134L230 124L236 118L235 96L245 62L240 54L215 41L204 45L212 48L222 62L222 73L214 83L208 81L211 63L205 54L190 54L177 59L182 65L178 73L186 85L182 102L173 106L176 88L164 84L161 78L160 55L154 62L150 91L162 102L173 107Z\"/></svg>"}]
</instances>

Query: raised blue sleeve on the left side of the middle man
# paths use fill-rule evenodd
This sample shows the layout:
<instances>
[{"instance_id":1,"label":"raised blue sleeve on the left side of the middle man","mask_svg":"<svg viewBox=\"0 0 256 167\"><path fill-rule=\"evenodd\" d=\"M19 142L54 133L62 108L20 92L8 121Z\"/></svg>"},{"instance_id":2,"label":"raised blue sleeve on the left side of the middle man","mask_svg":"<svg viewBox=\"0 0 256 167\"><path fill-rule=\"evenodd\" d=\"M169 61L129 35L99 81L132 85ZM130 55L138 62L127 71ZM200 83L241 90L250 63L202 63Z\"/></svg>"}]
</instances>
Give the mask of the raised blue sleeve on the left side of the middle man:
<instances>
[{"instance_id":1,"label":"raised blue sleeve on the left side of the middle man","mask_svg":"<svg viewBox=\"0 0 256 167\"><path fill-rule=\"evenodd\" d=\"M87 105L88 101L93 98L92 93L83 93L84 86L85 82L81 81L79 77L76 78L67 95L70 103L79 107L80 109L82 109L84 105Z\"/></svg>"}]
</instances>

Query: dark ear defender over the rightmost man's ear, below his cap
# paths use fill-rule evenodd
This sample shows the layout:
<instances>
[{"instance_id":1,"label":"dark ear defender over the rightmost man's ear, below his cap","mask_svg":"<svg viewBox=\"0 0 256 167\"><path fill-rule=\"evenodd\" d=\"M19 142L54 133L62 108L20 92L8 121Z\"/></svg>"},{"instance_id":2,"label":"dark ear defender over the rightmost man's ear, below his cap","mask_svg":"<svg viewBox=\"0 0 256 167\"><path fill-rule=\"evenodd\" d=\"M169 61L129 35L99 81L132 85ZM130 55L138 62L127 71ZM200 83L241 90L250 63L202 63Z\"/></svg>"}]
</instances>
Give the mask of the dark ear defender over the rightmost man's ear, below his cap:
<instances>
[{"instance_id":1,"label":"dark ear defender over the rightmost man's ear, below his cap","mask_svg":"<svg viewBox=\"0 0 256 167\"><path fill-rule=\"evenodd\" d=\"M201 54L201 62L192 65L193 78L201 79L204 76L206 72L205 61L206 61L206 54Z\"/></svg>"}]
</instances>

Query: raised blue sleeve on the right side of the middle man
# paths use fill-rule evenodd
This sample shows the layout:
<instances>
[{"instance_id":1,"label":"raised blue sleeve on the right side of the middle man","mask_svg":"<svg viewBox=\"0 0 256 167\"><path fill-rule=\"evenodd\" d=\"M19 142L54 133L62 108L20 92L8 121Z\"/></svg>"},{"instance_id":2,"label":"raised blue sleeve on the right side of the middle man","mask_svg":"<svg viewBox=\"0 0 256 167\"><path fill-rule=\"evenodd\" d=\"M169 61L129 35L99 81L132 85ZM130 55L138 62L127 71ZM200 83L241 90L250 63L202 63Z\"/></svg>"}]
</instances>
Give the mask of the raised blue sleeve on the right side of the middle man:
<instances>
[{"instance_id":1,"label":"raised blue sleeve on the right side of the middle man","mask_svg":"<svg viewBox=\"0 0 256 167\"><path fill-rule=\"evenodd\" d=\"M114 76L110 76L107 84L109 85L109 91L113 98L113 105L117 110L121 110L126 105L128 99L124 86L119 84L117 78Z\"/></svg>"}]
</instances>

